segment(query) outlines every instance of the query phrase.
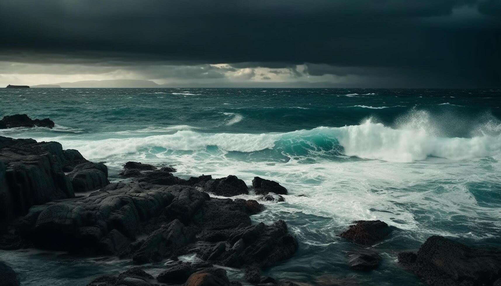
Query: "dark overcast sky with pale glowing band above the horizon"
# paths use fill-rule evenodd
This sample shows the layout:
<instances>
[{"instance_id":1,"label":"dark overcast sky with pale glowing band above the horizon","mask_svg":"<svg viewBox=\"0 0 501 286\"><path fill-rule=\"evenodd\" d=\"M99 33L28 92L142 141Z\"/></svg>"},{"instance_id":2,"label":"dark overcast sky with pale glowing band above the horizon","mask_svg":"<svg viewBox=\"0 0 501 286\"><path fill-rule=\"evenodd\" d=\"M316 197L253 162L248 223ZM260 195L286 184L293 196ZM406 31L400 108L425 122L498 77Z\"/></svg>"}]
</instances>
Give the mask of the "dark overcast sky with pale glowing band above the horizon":
<instances>
[{"instance_id":1,"label":"dark overcast sky with pale glowing band above the horizon","mask_svg":"<svg viewBox=\"0 0 501 286\"><path fill-rule=\"evenodd\" d=\"M501 0L2 0L0 85L501 87Z\"/></svg>"}]
</instances>

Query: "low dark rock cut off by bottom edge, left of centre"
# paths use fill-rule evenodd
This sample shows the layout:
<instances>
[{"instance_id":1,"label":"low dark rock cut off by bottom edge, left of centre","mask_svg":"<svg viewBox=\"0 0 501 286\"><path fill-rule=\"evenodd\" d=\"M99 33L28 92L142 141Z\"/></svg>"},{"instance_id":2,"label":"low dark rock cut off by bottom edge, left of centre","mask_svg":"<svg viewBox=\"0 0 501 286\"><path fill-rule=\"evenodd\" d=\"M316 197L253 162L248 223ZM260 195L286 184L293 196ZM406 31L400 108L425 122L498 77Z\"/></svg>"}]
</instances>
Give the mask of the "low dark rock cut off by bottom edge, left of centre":
<instances>
[{"instance_id":1,"label":"low dark rock cut off by bottom edge, left of centre","mask_svg":"<svg viewBox=\"0 0 501 286\"><path fill-rule=\"evenodd\" d=\"M139 267L133 267L118 276L102 276L87 286L152 286L154 277Z\"/></svg>"}]
</instances>

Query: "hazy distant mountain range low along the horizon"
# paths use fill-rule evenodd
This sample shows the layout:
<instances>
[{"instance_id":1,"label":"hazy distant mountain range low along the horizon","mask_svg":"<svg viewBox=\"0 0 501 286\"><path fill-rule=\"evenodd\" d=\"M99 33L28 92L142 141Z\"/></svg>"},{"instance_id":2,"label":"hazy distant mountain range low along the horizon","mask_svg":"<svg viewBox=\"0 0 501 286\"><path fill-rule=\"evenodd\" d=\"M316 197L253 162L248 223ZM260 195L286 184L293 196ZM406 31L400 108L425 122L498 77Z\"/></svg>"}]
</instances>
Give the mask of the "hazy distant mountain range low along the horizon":
<instances>
[{"instance_id":1,"label":"hazy distant mountain range low along the horizon","mask_svg":"<svg viewBox=\"0 0 501 286\"><path fill-rule=\"evenodd\" d=\"M32 88L332 88L330 82L228 82L228 83L169 83L159 85L154 81L144 80L102 80L79 81L73 83L55 83L34 85Z\"/></svg>"}]
</instances>

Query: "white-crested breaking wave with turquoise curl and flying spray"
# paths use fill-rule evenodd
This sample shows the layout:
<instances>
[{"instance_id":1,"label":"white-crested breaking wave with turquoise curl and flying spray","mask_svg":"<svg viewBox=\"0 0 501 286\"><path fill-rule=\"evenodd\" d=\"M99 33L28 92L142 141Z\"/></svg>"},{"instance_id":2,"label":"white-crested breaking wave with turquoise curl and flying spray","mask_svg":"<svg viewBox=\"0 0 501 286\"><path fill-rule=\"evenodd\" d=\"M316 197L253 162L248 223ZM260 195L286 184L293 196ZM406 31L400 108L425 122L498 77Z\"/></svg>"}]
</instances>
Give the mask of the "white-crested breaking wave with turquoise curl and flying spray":
<instances>
[{"instance_id":1,"label":"white-crested breaking wave with turquoise curl and flying spray","mask_svg":"<svg viewBox=\"0 0 501 286\"><path fill-rule=\"evenodd\" d=\"M241 120L238 114L227 125ZM412 125L393 129L371 120L360 125L317 127L287 133L201 133L181 130L174 134L145 138L105 139L98 141L66 141L65 148L77 149L90 159L110 155L136 153L153 147L166 150L204 150L210 146L226 152L268 152L269 156L303 156L326 158L356 156L391 162L412 162L440 157L452 160L493 156L501 151L499 134L484 134L472 138L447 138L430 134ZM271 153L270 153L271 151Z\"/></svg>"}]
</instances>

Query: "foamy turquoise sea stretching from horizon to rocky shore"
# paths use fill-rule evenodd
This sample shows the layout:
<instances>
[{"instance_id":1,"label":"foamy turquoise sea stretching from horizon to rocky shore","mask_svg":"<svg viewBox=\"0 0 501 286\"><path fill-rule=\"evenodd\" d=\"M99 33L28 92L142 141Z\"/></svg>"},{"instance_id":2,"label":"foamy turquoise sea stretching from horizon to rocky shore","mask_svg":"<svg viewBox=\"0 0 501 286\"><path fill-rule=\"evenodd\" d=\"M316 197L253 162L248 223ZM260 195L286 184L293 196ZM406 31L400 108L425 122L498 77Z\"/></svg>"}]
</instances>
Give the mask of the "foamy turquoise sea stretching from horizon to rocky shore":
<instances>
[{"instance_id":1,"label":"foamy turquoise sea stretching from horizon to rocky shore","mask_svg":"<svg viewBox=\"0 0 501 286\"><path fill-rule=\"evenodd\" d=\"M500 90L30 89L0 91L0 102L0 116L56 123L0 135L61 142L106 161L112 181L130 160L174 165L179 176L279 181L286 202L253 216L286 220L300 240L292 259L268 270L277 278L421 285L396 252L433 234L501 247ZM383 264L367 273L348 269L346 251L357 246L335 236L358 219L398 228L375 246ZM25 285L83 285L131 265L35 250L0 260Z\"/></svg>"}]
</instances>

